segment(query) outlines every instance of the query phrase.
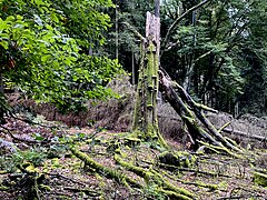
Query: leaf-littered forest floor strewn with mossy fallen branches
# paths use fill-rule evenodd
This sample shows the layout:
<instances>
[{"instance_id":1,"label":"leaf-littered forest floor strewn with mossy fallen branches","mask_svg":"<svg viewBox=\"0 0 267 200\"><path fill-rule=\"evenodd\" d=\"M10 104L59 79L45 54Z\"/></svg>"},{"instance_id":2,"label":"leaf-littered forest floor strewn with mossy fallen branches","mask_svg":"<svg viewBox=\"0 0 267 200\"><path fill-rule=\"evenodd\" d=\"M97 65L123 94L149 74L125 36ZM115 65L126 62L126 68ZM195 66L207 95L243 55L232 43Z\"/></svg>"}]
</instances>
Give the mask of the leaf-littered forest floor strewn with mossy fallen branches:
<instances>
[{"instance_id":1,"label":"leaf-littered forest floor strewn with mossy fallen branches","mask_svg":"<svg viewBox=\"0 0 267 200\"><path fill-rule=\"evenodd\" d=\"M160 159L165 149L152 142L129 141L127 132L67 127L46 121L42 116L37 116L31 123L26 122L24 116L18 118L8 118L0 129L2 200L33 197L49 200L171 199L171 192L162 192L165 186L175 187L174 191L186 189L192 194L189 199L267 198L267 181L258 184L255 176L257 169L265 171L267 168L264 148L249 149L234 158L208 151L184 151L180 142L169 139L172 151L180 156L178 162L165 162ZM85 164L73 149L93 161ZM149 172L154 172L154 177L149 177ZM117 174L123 177L119 179ZM125 183L125 178L129 184Z\"/></svg>"}]
</instances>

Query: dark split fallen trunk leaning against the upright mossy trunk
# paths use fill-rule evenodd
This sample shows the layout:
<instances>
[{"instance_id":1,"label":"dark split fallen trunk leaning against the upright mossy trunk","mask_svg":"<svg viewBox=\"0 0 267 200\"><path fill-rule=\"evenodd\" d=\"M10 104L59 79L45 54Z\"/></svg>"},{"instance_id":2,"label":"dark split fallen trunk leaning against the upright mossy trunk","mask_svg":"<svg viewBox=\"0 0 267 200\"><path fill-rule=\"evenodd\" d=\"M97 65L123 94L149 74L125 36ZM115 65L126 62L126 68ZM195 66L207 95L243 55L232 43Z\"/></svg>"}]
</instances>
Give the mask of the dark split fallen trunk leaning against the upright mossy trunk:
<instances>
[{"instance_id":1,"label":"dark split fallen trunk leaning against the upright mossy trunk","mask_svg":"<svg viewBox=\"0 0 267 200\"><path fill-rule=\"evenodd\" d=\"M230 142L212 126L205 117L202 110L216 112L200 103L196 103L191 97L178 83L170 80L166 72L159 71L160 90L165 92L166 99L169 101L175 111L180 116L188 128L188 132L192 138L192 146L198 149L199 141L211 143L219 147L220 150L229 153L228 149L243 152L243 149L236 143Z\"/></svg>"}]
</instances>

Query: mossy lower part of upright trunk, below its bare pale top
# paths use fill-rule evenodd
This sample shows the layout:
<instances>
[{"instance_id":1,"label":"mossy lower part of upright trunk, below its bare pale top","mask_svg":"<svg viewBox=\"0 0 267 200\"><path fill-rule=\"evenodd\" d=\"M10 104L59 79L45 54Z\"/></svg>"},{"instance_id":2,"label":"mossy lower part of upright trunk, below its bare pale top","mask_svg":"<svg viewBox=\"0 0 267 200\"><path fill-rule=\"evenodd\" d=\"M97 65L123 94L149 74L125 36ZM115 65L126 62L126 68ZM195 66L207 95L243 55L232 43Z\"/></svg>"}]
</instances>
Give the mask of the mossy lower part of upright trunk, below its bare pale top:
<instances>
[{"instance_id":1,"label":"mossy lower part of upright trunk, below its bare pale top","mask_svg":"<svg viewBox=\"0 0 267 200\"><path fill-rule=\"evenodd\" d=\"M144 49L144 43L141 43L141 61L139 71L139 80L141 81L138 82L137 88L138 92L136 94L132 130L141 140L155 140L161 147L168 148L167 142L159 132L157 120L159 69L159 58L156 51L157 47L149 39L146 49Z\"/></svg>"}]
</instances>

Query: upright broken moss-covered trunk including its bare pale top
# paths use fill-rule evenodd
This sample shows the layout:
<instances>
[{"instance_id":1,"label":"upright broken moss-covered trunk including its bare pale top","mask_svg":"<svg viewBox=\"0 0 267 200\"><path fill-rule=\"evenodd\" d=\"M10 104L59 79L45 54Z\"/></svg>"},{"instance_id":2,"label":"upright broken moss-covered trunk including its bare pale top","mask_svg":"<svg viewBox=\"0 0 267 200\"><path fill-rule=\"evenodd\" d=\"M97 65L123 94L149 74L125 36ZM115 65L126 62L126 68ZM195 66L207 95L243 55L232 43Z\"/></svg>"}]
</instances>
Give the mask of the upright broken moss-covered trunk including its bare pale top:
<instances>
[{"instance_id":1,"label":"upright broken moss-covered trunk including its bare pale top","mask_svg":"<svg viewBox=\"0 0 267 200\"><path fill-rule=\"evenodd\" d=\"M140 44L141 59L135 104L134 131L142 139L159 139L160 143L166 146L159 133L157 120L159 36L160 19L147 12L146 38L142 39Z\"/></svg>"}]
</instances>

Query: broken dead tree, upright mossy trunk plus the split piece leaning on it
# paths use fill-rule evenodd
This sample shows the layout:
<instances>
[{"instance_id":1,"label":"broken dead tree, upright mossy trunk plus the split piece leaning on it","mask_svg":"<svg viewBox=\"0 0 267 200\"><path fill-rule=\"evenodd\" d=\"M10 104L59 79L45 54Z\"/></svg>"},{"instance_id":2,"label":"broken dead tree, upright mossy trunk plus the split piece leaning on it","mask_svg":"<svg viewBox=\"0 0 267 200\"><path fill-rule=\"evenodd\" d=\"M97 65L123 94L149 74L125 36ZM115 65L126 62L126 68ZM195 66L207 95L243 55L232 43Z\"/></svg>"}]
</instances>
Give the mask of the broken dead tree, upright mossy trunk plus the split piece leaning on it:
<instances>
[{"instance_id":1,"label":"broken dead tree, upright mossy trunk plus the split piece leaning on it","mask_svg":"<svg viewBox=\"0 0 267 200\"><path fill-rule=\"evenodd\" d=\"M159 69L160 19L147 12L146 38L134 29L132 31L141 39L141 59L132 126L137 137L145 140L158 140L160 144L167 147L159 132L157 120L157 97L160 88L187 126L194 149L206 146L215 151L243 152L235 141L221 136L220 132L225 127L216 129L204 113L205 110L217 111L195 102L182 87L171 81L164 69Z\"/></svg>"}]
</instances>

